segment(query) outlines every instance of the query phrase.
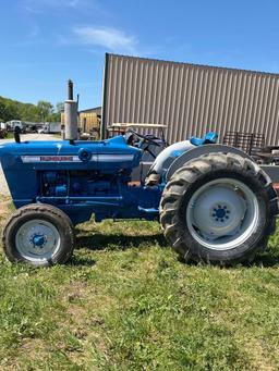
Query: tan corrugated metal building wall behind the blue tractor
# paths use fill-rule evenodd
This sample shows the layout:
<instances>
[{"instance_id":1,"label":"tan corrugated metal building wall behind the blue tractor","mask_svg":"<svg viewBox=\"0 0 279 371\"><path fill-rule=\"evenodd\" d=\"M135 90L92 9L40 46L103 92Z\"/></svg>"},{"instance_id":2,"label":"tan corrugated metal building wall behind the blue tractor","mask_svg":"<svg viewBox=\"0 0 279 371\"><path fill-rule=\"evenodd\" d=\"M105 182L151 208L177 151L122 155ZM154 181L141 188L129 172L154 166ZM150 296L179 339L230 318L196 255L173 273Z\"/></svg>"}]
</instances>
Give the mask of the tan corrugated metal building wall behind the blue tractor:
<instances>
[{"instance_id":1,"label":"tan corrugated metal building wall behind the blue tractor","mask_svg":"<svg viewBox=\"0 0 279 371\"><path fill-rule=\"evenodd\" d=\"M102 137L112 123L167 124L174 143L208 131L279 144L279 74L106 54Z\"/></svg>"}]
</instances>

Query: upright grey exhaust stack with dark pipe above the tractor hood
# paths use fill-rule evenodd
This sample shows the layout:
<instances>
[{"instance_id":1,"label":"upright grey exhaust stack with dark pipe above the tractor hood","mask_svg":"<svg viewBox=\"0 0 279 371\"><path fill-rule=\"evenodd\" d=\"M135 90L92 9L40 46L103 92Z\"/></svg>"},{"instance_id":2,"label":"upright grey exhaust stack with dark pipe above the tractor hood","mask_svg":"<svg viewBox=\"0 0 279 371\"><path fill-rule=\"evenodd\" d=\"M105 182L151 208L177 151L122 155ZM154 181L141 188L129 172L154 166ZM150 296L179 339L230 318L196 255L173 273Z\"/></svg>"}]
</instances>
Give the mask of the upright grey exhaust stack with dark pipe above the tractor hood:
<instances>
[{"instance_id":1,"label":"upright grey exhaust stack with dark pipe above the tractor hood","mask_svg":"<svg viewBox=\"0 0 279 371\"><path fill-rule=\"evenodd\" d=\"M65 112L65 140L77 139L77 101L73 99L73 82L69 79L68 82L68 100L64 102Z\"/></svg>"}]
</instances>

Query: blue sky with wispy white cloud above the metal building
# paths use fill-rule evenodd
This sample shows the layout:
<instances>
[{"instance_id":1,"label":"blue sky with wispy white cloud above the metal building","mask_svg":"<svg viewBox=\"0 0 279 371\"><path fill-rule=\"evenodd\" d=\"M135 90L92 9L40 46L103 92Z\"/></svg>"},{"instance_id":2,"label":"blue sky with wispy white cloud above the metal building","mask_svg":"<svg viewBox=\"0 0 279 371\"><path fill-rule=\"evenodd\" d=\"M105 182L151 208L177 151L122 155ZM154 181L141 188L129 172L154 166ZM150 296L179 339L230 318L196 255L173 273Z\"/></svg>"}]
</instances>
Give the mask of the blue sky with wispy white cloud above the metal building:
<instances>
[{"instance_id":1,"label":"blue sky with wispy white cloud above the metal building","mask_svg":"<svg viewBox=\"0 0 279 371\"><path fill-rule=\"evenodd\" d=\"M279 73L278 0L0 0L0 96L101 104L105 53Z\"/></svg>"}]
</instances>

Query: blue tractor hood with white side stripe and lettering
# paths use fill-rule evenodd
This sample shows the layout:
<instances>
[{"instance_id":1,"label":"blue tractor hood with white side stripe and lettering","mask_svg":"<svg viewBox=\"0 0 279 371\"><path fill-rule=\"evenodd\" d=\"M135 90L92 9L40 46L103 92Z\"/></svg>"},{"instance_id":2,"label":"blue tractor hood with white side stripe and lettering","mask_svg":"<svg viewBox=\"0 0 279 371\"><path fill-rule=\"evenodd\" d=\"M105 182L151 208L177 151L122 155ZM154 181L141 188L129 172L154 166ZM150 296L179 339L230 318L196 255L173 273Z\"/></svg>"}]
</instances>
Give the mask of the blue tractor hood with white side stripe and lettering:
<instances>
[{"instance_id":1,"label":"blue tractor hood with white side stripe and lettering","mask_svg":"<svg viewBox=\"0 0 279 371\"><path fill-rule=\"evenodd\" d=\"M117 172L136 168L142 151L128 146L122 136L102 141L23 141L0 145L5 170L101 170Z\"/></svg>"}]
</instances>

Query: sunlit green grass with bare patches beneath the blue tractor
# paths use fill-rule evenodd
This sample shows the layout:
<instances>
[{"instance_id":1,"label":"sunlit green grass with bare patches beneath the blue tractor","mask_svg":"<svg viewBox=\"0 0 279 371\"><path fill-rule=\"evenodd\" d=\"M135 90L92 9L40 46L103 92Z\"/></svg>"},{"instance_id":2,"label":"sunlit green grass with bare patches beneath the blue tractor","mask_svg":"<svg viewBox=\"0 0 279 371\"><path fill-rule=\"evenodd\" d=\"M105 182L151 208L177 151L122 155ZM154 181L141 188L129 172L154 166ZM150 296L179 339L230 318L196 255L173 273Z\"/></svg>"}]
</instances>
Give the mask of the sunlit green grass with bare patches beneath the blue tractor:
<instances>
[{"instance_id":1,"label":"sunlit green grass with bare patches beneath the blue tractor","mask_svg":"<svg viewBox=\"0 0 279 371\"><path fill-rule=\"evenodd\" d=\"M220 269L180 263L157 223L77 232L65 265L1 256L0 370L279 369L279 234L253 265Z\"/></svg>"}]
</instances>

